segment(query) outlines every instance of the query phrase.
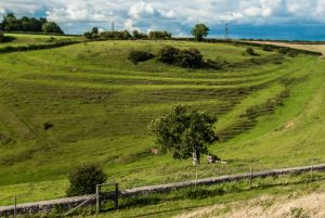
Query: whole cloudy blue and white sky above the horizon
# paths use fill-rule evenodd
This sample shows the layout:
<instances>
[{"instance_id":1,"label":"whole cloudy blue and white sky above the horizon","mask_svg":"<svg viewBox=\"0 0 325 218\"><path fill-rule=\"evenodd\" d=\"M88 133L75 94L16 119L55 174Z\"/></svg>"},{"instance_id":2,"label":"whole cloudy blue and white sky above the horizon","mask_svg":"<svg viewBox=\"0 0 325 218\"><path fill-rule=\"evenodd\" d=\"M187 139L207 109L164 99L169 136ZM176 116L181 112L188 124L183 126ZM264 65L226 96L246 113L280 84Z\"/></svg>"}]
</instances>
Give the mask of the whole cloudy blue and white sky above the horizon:
<instances>
[{"instance_id":1,"label":"whole cloudy blue and white sky above the horizon","mask_svg":"<svg viewBox=\"0 0 325 218\"><path fill-rule=\"evenodd\" d=\"M96 26L128 30L168 30L188 36L197 23L210 37L325 40L325 0L0 0L0 16L47 17L66 34Z\"/></svg>"}]
</instances>

